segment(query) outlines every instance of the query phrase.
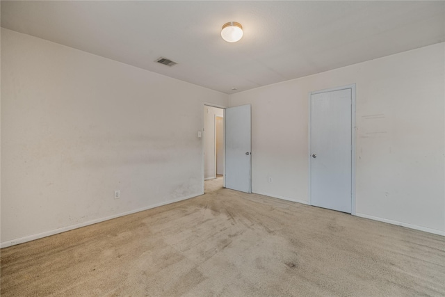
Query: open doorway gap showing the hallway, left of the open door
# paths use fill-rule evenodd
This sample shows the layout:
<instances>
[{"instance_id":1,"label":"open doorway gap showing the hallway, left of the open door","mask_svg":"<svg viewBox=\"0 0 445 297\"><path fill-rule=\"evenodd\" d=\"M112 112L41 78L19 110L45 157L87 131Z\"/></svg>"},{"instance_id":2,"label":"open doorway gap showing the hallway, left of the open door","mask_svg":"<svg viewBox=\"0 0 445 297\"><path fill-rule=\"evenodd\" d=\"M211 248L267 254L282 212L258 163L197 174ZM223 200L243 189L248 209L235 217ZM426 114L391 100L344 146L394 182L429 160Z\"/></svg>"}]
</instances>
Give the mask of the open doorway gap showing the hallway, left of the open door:
<instances>
[{"instance_id":1,"label":"open doorway gap showing the hallway, left of the open door","mask_svg":"<svg viewBox=\"0 0 445 297\"><path fill-rule=\"evenodd\" d=\"M224 109L204 105L204 180L224 175Z\"/></svg>"}]
</instances>

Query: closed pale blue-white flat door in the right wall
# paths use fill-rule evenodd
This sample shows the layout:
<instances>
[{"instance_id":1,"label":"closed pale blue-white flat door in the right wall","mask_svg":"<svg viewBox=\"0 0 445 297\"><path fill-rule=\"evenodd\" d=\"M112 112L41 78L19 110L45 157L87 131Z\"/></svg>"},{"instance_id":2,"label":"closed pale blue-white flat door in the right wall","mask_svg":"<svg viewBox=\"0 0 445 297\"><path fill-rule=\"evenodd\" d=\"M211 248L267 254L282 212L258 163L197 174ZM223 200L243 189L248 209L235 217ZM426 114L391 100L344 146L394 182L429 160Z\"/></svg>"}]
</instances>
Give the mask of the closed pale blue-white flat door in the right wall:
<instances>
[{"instance_id":1,"label":"closed pale blue-white flat door in the right wall","mask_svg":"<svg viewBox=\"0 0 445 297\"><path fill-rule=\"evenodd\" d=\"M352 90L311 95L311 204L352 209Z\"/></svg>"}]
</instances>

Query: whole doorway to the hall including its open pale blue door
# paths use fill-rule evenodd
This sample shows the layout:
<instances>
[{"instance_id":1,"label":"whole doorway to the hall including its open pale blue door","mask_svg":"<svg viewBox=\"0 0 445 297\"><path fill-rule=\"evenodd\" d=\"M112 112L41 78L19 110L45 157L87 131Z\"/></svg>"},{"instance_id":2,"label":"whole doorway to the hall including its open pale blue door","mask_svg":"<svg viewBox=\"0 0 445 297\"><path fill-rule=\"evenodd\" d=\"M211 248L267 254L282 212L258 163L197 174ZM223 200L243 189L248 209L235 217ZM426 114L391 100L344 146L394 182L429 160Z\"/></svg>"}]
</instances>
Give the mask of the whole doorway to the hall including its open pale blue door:
<instances>
[{"instance_id":1,"label":"whole doorway to the hall including its open pale blue door","mask_svg":"<svg viewBox=\"0 0 445 297\"><path fill-rule=\"evenodd\" d=\"M203 138L202 193L204 181L214 179L222 179L223 187L252 193L250 104L225 108L204 103L203 108L204 127L198 132Z\"/></svg>"}]
</instances>

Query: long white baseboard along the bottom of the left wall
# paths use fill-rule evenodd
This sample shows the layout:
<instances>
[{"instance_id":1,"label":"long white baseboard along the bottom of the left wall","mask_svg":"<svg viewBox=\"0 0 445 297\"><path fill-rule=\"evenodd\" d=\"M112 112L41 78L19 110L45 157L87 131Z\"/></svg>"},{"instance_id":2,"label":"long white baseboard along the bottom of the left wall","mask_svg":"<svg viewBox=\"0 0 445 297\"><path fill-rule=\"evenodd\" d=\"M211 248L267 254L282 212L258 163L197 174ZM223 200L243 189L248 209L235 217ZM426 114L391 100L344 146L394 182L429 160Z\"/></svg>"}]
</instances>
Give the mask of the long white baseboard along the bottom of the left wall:
<instances>
[{"instance_id":1,"label":"long white baseboard along the bottom of the left wall","mask_svg":"<svg viewBox=\"0 0 445 297\"><path fill-rule=\"evenodd\" d=\"M93 224L96 224L96 223L104 222L105 220L111 220L113 218L119 218L120 216L127 216L129 214L135 214L136 212L139 212L139 211L145 211L147 209L152 209L152 208L155 208L155 207L161 207L161 206L166 205L166 204L171 204L171 203L179 202L179 201L182 201L182 200L187 200L187 199L194 198L194 197L197 197L197 196L202 195L202 194L203 193L198 193L196 195L190 195L190 196L186 196L186 197L179 198L179 199L176 199L176 200L169 200L167 202L161 202L161 203L152 204L152 205L150 205L148 207L143 207L143 208L140 208L140 209L133 209L131 211L125 211L125 212L122 212L120 214L113 214L112 216L106 216L104 218L97 218L95 220L88 220L88 221L83 222L83 223L78 223L78 224L74 224L74 225L70 225L70 226L66 226L66 227L61 227L61 228L58 228L58 229L55 229L55 230L50 230L50 231L46 231L46 232L42 232L42 233L38 233L38 234L29 235L29 236L24 236L24 237L21 237L19 239L13 239L13 240L10 240L10 241L4 241L4 242L0 243L0 248L8 248L9 246L15 246L15 245L20 244L20 243L25 243L25 242L28 242L28 241L33 241L35 239L41 239L41 238L44 238L44 237L47 237L47 236L51 236L51 235L55 235L55 234L58 234L58 233L63 233L63 232L67 232L67 231L70 231L70 230L77 229L77 228L86 227L88 225L93 225Z\"/></svg>"}]
</instances>

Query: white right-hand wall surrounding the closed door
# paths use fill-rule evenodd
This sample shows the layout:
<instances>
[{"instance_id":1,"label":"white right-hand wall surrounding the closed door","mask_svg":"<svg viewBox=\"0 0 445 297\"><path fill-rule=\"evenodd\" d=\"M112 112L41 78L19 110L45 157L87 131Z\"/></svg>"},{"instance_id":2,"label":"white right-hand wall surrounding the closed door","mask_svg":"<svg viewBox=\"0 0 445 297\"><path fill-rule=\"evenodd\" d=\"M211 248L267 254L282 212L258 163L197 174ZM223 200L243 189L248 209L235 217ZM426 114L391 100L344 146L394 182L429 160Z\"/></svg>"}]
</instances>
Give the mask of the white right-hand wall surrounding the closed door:
<instances>
[{"instance_id":1,"label":"white right-hand wall surrounding the closed door","mask_svg":"<svg viewBox=\"0 0 445 297\"><path fill-rule=\"evenodd\" d=\"M308 202L308 93L356 83L357 215L445 235L444 53L441 43L232 95L231 106L252 104L252 191Z\"/></svg>"}]
</instances>

